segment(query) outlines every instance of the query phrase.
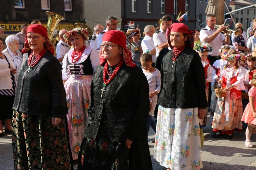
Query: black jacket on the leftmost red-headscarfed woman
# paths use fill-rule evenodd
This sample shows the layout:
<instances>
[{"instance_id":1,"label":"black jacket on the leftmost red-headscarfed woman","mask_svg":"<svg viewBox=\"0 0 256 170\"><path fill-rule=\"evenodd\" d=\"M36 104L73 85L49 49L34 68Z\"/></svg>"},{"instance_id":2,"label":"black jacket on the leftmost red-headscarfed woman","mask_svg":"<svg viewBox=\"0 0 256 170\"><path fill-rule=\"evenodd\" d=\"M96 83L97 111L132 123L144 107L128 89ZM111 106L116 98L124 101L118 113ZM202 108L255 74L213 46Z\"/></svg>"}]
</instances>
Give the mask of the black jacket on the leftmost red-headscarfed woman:
<instances>
[{"instance_id":1,"label":"black jacket on the leftmost red-headscarfed woman","mask_svg":"<svg viewBox=\"0 0 256 170\"><path fill-rule=\"evenodd\" d=\"M64 118L68 113L60 63L46 52L32 69L24 54L13 109L22 113Z\"/></svg>"}]
</instances>

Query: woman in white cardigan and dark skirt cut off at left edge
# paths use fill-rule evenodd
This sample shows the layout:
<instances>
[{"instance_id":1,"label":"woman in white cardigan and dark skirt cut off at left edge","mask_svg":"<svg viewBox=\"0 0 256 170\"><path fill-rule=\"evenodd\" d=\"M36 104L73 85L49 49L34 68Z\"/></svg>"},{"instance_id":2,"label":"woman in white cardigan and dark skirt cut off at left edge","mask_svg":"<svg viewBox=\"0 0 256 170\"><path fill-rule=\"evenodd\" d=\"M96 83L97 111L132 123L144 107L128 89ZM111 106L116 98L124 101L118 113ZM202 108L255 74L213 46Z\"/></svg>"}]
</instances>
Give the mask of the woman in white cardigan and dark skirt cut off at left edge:
<instances>
[{"instance_id":1,"label":"woman in white cardigan and dark skirt cut off at left edge","mask_svg":"<svg viewBox=\"0 0 256 170\"><path fill-rule=\"evenodd\" d=\"M5 120L5 133L12 132L11 118L15 91L14 74L16 74L11 57L2 51L3 41L0 38L0 101L3 106L0 114L0 137L4 135L2 120Z\"/></svg>"}]
</instances>

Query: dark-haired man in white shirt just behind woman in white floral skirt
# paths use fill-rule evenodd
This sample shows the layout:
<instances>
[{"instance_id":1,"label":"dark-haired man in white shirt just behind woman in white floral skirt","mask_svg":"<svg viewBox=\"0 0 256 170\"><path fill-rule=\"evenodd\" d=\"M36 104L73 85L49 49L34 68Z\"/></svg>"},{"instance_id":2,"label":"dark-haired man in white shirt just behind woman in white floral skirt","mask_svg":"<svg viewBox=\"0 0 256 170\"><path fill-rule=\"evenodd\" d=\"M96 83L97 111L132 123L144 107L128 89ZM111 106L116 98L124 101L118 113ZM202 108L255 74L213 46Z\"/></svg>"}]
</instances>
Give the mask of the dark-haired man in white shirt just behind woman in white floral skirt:
<instances>
[{"instance_id":1,"label":"dark-haired man in white shirt just behind woman in white floral skirt","mask_svg":"<svg viewBox=\"0 0 256 170\"><path fill-rule=\"evenodd\" d=\"M163 16L161 19L160 30L153 34L154 45L156 47L156 57L158 57L160 51L163 48L168 47L166 30L167 28L171 28L171 24L172 24L172 17L170 15Z\"/></svg>"}]
</instances>

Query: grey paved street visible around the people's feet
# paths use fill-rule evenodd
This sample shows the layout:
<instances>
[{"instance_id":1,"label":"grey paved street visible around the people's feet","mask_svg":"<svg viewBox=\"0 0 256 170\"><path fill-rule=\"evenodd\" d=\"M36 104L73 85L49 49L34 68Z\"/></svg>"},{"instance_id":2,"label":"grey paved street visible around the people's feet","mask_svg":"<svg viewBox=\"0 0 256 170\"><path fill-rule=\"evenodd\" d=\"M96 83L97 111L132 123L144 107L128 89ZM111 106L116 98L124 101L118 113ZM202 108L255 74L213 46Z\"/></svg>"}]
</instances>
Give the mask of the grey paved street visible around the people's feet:
<instances>
[{"instance_id":1,"label":"grey paved street visible around the people's feet","mask_svg":"<svg viewBox=\"0 0 256 170\"><path fill-rule=\"evenodd\" d=\"M212 138L210 117L204 129L204 147L201 148L203 161L202 170L255 170L256 169L256 134L252 134L251 140L255 148L246 148L245 130L241 133L235 132L231 140L223 137ZM150 130L148 142L153 138L153 131ZM13 170L13 156L11 135L0 137L0 170ZM150 153L154 170L166 170L153 159L154 144L149 142Z\"/></svg>"}]
</instances>

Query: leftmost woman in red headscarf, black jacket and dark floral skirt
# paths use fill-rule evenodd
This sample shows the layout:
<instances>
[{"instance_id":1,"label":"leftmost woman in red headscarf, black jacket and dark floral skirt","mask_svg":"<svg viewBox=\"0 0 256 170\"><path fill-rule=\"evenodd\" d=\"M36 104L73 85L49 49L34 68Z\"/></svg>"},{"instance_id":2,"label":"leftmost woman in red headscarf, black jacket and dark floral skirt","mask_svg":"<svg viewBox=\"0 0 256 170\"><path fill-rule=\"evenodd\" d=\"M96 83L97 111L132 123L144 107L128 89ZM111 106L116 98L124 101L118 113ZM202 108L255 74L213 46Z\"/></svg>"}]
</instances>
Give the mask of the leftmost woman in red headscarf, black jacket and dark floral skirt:
<instances>
[{"instance_id":1,"label":"leftmost woman in red headscarf, black jacket and dark floral skirt","mask_svg":"<svg viewBox=\"0 0 256 170\"><path fill-rule=\"evenodd\" d=\"M47 30L27 28L13 104L14 169L72 169L60 63Z\"/></svg>"}]
</instances>

